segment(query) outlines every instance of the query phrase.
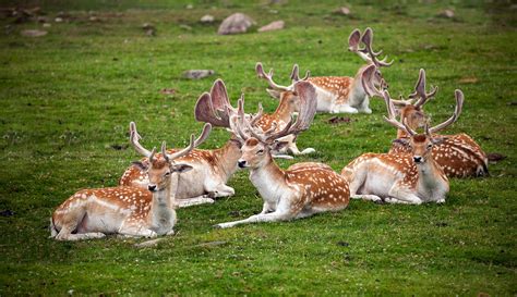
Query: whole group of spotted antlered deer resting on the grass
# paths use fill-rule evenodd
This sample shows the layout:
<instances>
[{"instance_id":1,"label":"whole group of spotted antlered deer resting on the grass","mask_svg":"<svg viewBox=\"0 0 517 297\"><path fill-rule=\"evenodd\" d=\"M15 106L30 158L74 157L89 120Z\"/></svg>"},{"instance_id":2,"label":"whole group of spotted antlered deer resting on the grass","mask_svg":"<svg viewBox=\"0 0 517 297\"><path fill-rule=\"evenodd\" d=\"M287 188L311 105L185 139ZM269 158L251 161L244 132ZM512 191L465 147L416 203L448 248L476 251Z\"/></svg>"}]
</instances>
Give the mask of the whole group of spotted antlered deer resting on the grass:
<instances>
[{"instance_id":1,"label":"whole group of spotted antlered deer resting on the grass","mask_svg":"<svg viewBox=\"0 0 517 297\"><path fill-rule=\"evenodd\" d=\"M243 96L237 108L232 107L224 82L217 79L211 91L197 99L195 120L205 122L205 126L197 139L191 136L184 149L166 149L165 143L160 152L144 148L132 122L130 141L144 159L133 162L118 187L83 189L59 206L50 220L51 237L77 240L106 234L173 234L175 209L235 195L226 183L238 168L249 169L250 181L264 200L262 212L218 227L338 211L348 206L350 197L388 203L440 203L449 190L447 177L488 174L486 156L472 138L437 134L458 119L464 94L456 90L453 115L430 127L423 107L437 88L426 92L425 72L420 70L414 92L406 100L392 99L380 71L392 63L377 59L381 51L373 51L372 40L370 28L362 35L356 29L349 37L349 50L366 61L354 77L309 77L308 72L300 78L294 65L292 84L280 86L273 82L273 72L266 74L257 63L258 77L267 81L268 92L279 99L278 108L269 114L262 106L254 114L245 113ZM323 163L297 163L282 170L274 161L292 158L289 152L297 156L314 151L300 151L296 139L310 127L316 112L371 113L369 99L373 96L384 99L384 120L397 128L397 139L387 153L364 153L340 174ZM218 149L195 149L212 127L228 129L229 140Z\"/></svg>"}]
</instances>

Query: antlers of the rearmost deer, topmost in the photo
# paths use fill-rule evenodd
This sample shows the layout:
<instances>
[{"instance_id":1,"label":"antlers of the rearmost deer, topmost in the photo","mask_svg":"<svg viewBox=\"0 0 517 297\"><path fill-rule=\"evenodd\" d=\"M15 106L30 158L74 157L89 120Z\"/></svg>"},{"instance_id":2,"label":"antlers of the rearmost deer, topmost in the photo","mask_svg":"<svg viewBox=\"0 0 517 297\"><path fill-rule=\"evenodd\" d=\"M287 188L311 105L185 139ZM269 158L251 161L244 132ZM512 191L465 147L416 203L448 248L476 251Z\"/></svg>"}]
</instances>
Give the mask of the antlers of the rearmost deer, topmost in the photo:
<instances>
[{"instance_id":1,"label":"antlers of the rearmost deer, topmost in the photo","mask_svg":"<svg viewBox=\"0 0 517 297\"><path fill-rule=\"evenodd\" d=\"M354 29L348 37L348 50L356 52L364 61L372 63L377 67L390 66L394 61L392 60L392 62L386 62L387 57L385 57L383 60L377 59L377 57L381 55L383 51L380 50L378 52L374 52L372 49L372 41L373 30L370 27L364 30L362 36L359 29ZM364 48L359 48L360 42L364 45Z\"/></svg>"}]
</instances>

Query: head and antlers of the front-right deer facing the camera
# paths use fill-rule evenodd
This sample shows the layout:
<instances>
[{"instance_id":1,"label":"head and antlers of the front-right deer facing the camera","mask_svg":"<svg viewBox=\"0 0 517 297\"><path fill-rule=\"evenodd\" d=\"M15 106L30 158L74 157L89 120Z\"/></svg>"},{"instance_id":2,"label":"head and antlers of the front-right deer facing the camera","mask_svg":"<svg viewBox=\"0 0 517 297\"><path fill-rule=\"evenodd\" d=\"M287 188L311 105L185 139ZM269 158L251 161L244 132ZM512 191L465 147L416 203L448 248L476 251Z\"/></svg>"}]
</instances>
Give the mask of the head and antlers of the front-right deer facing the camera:
<instances>
[{"instance_id":1,"label":"head and antlers of the front-right deer facing the camera","mask_svg":"<svg viewBox=\"0 0 517 297\"><path fill-rule=\"evenodd\" d=\"M445 138L441 136L435 136L438 131L446 128L447 126L452 125L456 120L458 120L459 114L461 113L461 109L464 106L464 94L461 90L457 89L455 91L456 97L456 108L454 114L445 122L429 127L429 124L425 123L424 125L424 134L418 134L413 128L411 128L407 120L402 120L402 122L398 122L395 117L395 107L389 98L389 94L387 91L382 91L383 98L386 101L387 107L387 114L388 116L384 116L384 120L399 128L405 131L410 137L409 139L397 139L397 141L401 141L404 145L407 145L411 148L413 160L417 164L425 163L428 160L431 160L432 148L434 145L441 144Z\"/></svg>"}]
</instances>

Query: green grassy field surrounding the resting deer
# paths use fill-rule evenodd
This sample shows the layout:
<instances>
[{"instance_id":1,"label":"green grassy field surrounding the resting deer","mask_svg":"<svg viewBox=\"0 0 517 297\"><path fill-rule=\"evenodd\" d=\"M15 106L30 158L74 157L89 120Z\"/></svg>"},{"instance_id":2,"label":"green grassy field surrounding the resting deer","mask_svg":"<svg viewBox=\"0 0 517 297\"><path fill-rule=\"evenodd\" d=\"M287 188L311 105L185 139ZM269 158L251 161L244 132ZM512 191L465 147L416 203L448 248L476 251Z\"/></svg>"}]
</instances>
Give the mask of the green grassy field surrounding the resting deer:
<instances>
[{"instance_id":1,"label":"green grassy field surrounding the resting deer","mask_svg":"<svg viewBox=\"0 0 517 297\"><path fill-rule=\"evenodd\" d=\"M16 2L40 5L51 26L0 22L1 296L517 294L515 4L350 1L351 16L342 16L333 13L339 1ZM455 17L437 17L444 9ZM238 11L257 26L285 20L286 29L217 36L220 21ZM56 23L59 12L64 22ZM207 13L216 23L199 23ZM146 36L143 23L154 24L156 36ZM262 209L248 172L238 172L229 183L235 197L180 209L178 234L155 248L133 247L145 239L47 238L58 205L80 188L116 185L140 158L128 148L130 121L148 147L161 140L184 146L202 127L192 116L195 100L217 77L233 102L244 92L249 110L263 102L273 111L276 101L256 78L255 62L274 67L281 83L293 63L314 76L352 75L362 61L346 51L346 38L366 26L374 29L374 48L395 59L384 71L393 96L409 94L425 69L428 82L440 86L426 106L438 122L453 111L454 89L465 92L464 113L447 133L466 132L486 152L506 156L490 165L490 177L450 181L441 206L354 200L338 213L215 230ZM48 35L21 36L34 28ZM190 69L217 73L182 78ZM340 171L362 152L387 151L395 129L382 121L381 100L371 107L373 114L345 114L351 122L338 125L318 114L299 137L300 148L317 152L296 161ZM215 131L203 148L228 137ZM221 243L206 245L213 242Z\"/></svg>"}]
</instances>

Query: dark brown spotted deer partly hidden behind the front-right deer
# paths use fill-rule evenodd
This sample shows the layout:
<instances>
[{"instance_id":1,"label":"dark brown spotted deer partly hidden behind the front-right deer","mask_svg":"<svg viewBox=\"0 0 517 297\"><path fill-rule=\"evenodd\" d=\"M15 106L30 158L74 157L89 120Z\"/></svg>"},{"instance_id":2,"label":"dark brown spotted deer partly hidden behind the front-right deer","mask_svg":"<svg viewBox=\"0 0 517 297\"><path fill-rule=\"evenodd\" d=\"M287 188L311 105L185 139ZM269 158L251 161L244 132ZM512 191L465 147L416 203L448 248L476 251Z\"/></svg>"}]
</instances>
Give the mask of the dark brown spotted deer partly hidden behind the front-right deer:
<instances>
[{"instance_id":1,"label":"dark brown spotted deer partly hidden behind the front-right deer","mask_svg":"<svg viewBox=\"0 0 517 297\"><path fill-rule=\"evenodd\" d=\"M368 84L368 83L365 83ZM372 86L365 87L376 95ZM436 95L437 87L425 91L425 71L420 70L414 92L408 100L397 100L400 107L400 121L406 122L412 129L425 125L429 121L423 106ZM414 103L414 99L418 99ZM442 166L448 177L468 177L489 174L488 158L481 147L467 134L441 135L444 141L433 147L434 160ZM397 131L397 139L393 141L389 153L410 152L407 146L408 135L404 129Z\"/></svg>"}]
</instances>

